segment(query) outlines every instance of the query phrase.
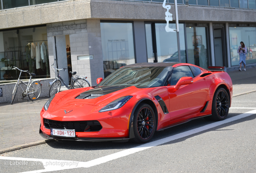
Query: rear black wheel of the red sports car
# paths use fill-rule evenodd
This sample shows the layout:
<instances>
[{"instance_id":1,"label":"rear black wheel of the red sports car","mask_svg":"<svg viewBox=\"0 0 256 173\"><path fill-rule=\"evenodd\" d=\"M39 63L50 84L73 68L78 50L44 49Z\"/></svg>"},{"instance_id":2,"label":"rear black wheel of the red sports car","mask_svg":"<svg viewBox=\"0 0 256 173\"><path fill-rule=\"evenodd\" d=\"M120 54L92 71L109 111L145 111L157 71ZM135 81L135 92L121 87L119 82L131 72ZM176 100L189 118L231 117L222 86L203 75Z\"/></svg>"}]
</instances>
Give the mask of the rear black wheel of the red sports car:
<instances>
[{"instance_id":1,"label":"rear black wheel of the red sports car","mask_svg":"<svg viewBox=\"0 0 256 173\"><path fill-rule=\"evenodd\" d=\"M213 96L212 115L206 118L211 118L215 121L226 119L229 113L229 105L230 101L227 91L223 88L217 89Z\"/></svg>"}]
</instances>

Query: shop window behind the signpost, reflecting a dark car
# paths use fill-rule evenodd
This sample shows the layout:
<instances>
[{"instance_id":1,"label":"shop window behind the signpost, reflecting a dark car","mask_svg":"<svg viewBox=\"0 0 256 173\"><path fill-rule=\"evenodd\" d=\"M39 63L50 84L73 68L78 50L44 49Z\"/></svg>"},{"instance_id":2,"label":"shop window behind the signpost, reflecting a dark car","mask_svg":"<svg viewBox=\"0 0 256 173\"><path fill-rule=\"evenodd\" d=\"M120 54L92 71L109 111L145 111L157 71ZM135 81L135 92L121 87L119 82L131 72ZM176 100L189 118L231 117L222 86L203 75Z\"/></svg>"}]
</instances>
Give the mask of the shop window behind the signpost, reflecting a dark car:
<instances>
[{"instance_id":1,"label":"shop window behind the signpost, reflecting a dark car","mask_svg":"<svg viewBox=\"0 0 256 173\"><path fill-rule=\"evenodd\" d=\"M157 62L179 62L177 34L176 32L166 32L165 26L166 26L166 23L155 24L155 35L156 35L156 44L157 44ZM169 24L169 28L175 29L176 24ZM184 24L179 24L179 29L180 29L181 60L182 62L186 63Z\"/></svg>"}]
</instances>

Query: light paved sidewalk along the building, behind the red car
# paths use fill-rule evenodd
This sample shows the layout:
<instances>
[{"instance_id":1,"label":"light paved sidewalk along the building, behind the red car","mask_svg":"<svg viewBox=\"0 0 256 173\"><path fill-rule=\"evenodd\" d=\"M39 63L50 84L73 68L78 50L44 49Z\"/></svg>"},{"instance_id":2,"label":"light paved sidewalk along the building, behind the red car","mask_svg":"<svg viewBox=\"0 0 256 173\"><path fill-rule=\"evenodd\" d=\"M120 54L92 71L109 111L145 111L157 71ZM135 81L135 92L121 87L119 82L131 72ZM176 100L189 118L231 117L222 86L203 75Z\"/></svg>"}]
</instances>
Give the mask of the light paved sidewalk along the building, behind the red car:
<instances>
[{"instance_id":1,"label":"light paved sidewalk along the building, behind the red car","mask_svg":"<svg viewBox=\"0 0 256 173\"><path fill-rule=\"evenodd\" d=\"M256 91L256 68L228 74L233 81L233 97ZM39 135L40 111L48 99L0 104L0 154L49 141Z\"/></svg>"}]
</instances>

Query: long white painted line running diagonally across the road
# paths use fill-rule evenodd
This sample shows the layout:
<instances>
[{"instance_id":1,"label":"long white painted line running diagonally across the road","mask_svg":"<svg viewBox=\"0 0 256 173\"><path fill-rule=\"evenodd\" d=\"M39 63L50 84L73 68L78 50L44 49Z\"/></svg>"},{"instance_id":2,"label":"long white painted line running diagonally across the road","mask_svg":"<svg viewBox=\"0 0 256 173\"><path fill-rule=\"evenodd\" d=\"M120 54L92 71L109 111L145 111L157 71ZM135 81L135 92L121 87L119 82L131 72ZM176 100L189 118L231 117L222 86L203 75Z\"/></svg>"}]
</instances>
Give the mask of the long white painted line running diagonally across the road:
<instances>
[{"instance_id":1,"label":"long white painted line running diagonally across the road","mask_svg":"<svg viewBox=\"0 0 256 173\"><path fill-rule=\"evenodd\" d=\"M248 117L250 115L254 115L254 114L256 114L256 109L253 110L253 111L249 111L249 112L237 115L235 117L225 119L223 121L217 121L217 122L211 123L209 125L198 127L196 129L192 129L192 130L189 130L189 131L186 131L186 132L183 132L183 133L179 133L177 135L173 135L173 136L170 136L170 137L159 139L157 141L146 143L146 144L140 145L138 147L134 147L134 148L131 148L131 149L126 149L124 151L120 151L118 153L114 153L114 154L111 154L111 155L100 157L98 159L94 159L94 160L87 161L87 162L51 160L51 159L31 159L31 158L21 158L21 157L2 157L2 156L0 156L0 159L2 159L2 160L19 160L19 161L35 161L35 162L39 161L39 162L42 162L43 166L45 167L45 169L36 170L36 171L27 171L27 172L23 172L23 173L42 173L42 172L60 171L60 170L64 170L64 169L73 169L73 168L80 168L80 167L89 168L89 167L93 167L95 165L99 165L101 163L106 163L108 161L112 161L112 160L118 159L120 157L124 157L124 156L130 155L130 154L136 153L138 151L142 151L142 150L145 150L145 149L149 149L151 147L155 147L157 145L161 145L163 143L174 141L176 139L187 137L187 136L193 135L195 133L199 133L199 132L202 132L202 131L205 131L205 130L208 130L208 129L211 129L211 128L214 128L214 127L217 127L217 126L220 126L220 125L223 125L223 124L226 124L226 123L230 123L232 121L236 121L236 120L239 120L239 119L242 119L242 118ZM50 163L52 163L52 165L50 165ZM72 165L62 166L62 165L56 165L56 164L53 165L53 163L56 163L56 164L57 163L72 163Z\"/></svg>"}]
</instances>

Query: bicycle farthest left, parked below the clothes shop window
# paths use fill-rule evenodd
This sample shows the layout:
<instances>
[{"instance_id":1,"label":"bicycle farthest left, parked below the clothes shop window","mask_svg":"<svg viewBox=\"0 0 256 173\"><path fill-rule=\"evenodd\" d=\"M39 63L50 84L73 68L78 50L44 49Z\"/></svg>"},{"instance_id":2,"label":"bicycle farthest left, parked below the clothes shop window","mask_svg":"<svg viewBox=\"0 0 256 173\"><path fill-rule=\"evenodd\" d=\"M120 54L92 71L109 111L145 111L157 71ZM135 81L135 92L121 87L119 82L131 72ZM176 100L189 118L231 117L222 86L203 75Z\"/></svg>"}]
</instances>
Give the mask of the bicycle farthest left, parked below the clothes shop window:
<instances>
[{"instance_id":1,"label":"bicycle farthest left, parked below the clothes shop window","mask_svg":"<svg viewBox=\"0 0 256 173\"><path fill-rule=\"evenodd\" d=\"M17 67L13 67L12 70L20 70L19 68ZM25 71L25 70L20 70L21 72L27 72L29 75L30 75L30 78L29 78L29 82L28 84L26 84L25 82L23 82L20 78L21 78L21 72L20 72L20 75L19 75L19 78L18 78L18 81L17 83L15 84L15 87L12 91L12 99L11 99L11 105L14 101L14 98L17 94L17 89L18 87L21 87L22 89L22 97L23 99L27 96L31 101L35 101L38 99L38 97L41 95L41 91L42 91L42 85L40 83L39 80L31 80L32 76L35 76L35 73L30 73L29 70ZM25 84L27 86L27 89L24 91L23 87L21 86L21 84ZM28 101L29 101L28 99Z\"/></svg>"}]
</instances>

